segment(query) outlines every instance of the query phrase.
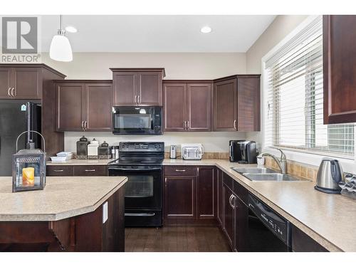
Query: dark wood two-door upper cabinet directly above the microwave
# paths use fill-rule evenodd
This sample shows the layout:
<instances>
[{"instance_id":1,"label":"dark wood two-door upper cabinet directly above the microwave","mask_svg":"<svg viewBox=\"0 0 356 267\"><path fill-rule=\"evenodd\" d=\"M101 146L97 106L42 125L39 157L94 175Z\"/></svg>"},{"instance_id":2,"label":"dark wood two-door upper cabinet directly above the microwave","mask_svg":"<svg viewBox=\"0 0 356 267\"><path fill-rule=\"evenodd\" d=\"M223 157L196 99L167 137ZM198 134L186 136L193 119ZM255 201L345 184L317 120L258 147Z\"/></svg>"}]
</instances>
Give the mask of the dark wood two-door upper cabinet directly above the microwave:
<instances>
[{"instance_id":1,"label":"dark wood two-door upper cabinet directly above the microwave","mask_svg":"<svg viewBox=\"0 0 356 267\"><path fill-rule=\"evenodd\" d=\"M110 68L112 105L161 106L164 68Z\"/></svg>"}]
</instances>

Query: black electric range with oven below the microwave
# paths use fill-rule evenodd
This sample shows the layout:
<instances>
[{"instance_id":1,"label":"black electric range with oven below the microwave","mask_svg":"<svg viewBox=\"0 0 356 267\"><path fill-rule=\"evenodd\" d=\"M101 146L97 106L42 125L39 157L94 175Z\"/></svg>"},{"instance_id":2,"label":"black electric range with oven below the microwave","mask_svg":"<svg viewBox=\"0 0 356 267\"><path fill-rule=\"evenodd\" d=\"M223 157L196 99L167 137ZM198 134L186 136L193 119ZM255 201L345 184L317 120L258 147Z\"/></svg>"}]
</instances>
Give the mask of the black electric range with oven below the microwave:
<instances>
[{"instance_id":1,"label":"black electric range with oven below the microwave","mask_svg":"<svg viewBox=\"0 0 356 267\"><path fill-rule=\"evenodd\" d=\"M109 176L125 176L125 226L162 226L164 142L120 142Z\"/></svg>"}]
</instances>

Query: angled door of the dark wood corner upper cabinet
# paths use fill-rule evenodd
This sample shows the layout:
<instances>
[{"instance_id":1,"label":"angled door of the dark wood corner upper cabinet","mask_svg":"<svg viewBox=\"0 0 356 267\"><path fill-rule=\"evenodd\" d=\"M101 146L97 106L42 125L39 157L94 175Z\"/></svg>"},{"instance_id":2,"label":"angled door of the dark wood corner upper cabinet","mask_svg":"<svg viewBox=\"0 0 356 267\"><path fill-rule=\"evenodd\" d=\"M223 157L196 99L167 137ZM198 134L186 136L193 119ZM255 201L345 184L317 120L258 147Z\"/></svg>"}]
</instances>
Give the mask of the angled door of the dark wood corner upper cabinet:
<instances>
[{"instance_id":1,"label":"angled door of the dark wood corner upper cabinet","mask_svg":"<svg viewBox=\"0 0 356 267\"><path fill-rule=\"evenodd\" d=\"M214 131L236 131L236 78L214 83Z\"/></svg>"}]
</instances>

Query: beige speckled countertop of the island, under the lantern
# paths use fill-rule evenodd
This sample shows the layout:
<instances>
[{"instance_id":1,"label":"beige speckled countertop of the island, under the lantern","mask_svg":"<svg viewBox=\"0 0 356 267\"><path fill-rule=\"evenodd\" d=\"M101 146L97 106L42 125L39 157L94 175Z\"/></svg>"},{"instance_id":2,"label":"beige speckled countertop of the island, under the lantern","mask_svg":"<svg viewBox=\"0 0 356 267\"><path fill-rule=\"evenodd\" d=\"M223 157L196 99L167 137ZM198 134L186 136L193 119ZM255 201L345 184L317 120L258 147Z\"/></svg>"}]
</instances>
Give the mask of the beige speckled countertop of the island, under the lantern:
<instances>
[{"instance_id":1,"label":"beige speckled countertop of the island, under the lantern","mask_svg":"<svg viewBox=\"0 0 356 267\"><path fill-rule=\"evenodd\" d=\"M95 211L127 177L47 177L43 190L12 193L0 177L0 221L58 221Z\"/></svg>"}]
</instances>

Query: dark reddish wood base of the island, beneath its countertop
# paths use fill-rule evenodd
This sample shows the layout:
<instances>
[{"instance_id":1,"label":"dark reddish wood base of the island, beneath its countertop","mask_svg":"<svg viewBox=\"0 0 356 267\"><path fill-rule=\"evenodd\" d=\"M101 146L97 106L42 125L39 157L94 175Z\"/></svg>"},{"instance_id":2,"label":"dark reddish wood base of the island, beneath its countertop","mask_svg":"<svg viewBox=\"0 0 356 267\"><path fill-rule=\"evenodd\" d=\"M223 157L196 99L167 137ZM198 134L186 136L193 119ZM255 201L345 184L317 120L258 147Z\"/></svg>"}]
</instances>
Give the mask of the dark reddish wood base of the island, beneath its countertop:
<instances>
[{"instance_id":1,"label":"dark reddish wood base of the island, beneath its countertop","mask_svg":"<svg viewBox=\"0 0 356 267\"><path fill-rule=\"evenodd\" d=\"M125 251L125 187L93 212L60 221L0 221L0 251ZM104 202L105 204L105 202Z\"/></svg>"}]
</instances>

